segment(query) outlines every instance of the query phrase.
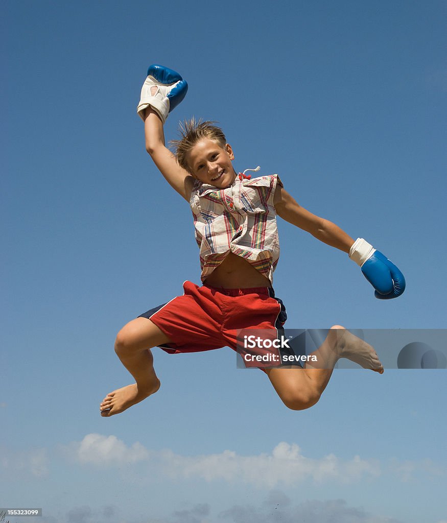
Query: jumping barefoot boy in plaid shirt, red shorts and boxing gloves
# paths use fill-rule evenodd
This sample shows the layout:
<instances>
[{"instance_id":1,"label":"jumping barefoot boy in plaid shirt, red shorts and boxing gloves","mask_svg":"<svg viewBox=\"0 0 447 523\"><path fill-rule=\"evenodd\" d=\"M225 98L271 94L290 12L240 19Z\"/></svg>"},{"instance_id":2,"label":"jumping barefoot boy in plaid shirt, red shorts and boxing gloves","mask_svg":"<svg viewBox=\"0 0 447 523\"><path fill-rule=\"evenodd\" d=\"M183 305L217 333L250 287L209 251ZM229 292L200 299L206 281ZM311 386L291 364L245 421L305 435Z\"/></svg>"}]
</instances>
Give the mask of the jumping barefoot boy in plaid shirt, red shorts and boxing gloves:
<instances>
[{"instance_id":1,"label":"jumping barefoot boy in plaid shirt, red shorts and boxing gloves","mask_svg":"<svg viewBox=\"0 0 447 523\"><path fill-rule=\"evenodd\" d=\"M405 290L404 276L390 260L362 238L354 242L334 223L300 207L277 175L254 179L238 175L232 165L233 149L213 122L186 122L181 140L173 142L173 155L165 147L163 124L186 90L178 73L151 65L137 111L144 121L147 152L191 206L203 285L186 281L182 296L142 314L118 333L116 354L135 383L107 394L100 404L105 417L158 391L152 347L187 353L229 346L240 352L241 329L277 334L286 319L272 288L279 257L277 216L349 253L377 298L396 298ZM317 362L306 362L304 368L263 368L283 403L293 410L315 405L339 358L383 372L373 347L340 325L330 329L313 354Z\"/></svg>"}]
</instances>

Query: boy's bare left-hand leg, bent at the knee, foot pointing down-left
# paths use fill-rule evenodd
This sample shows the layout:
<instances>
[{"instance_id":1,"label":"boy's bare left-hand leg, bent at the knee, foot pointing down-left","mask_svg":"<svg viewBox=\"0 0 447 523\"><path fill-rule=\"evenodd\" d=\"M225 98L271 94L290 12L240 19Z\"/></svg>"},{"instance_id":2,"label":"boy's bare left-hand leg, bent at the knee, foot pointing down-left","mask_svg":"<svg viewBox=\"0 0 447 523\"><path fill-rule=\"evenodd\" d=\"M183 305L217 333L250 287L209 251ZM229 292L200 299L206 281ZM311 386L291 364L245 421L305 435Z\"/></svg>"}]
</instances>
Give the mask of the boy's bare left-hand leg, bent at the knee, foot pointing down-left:
<instances>
[{"instance_id":1,"label":"boy's bare left-hand leg, bent at the knee, foot pointing down-left","mask_svg":"<svg viewBox=\"0 0 447 523\"><path fill-rule=\"evenodd\" d=\"M115 352L136 383L107 394L100 404L102 416L119 414L158 391L160 381L153 368L150 348L170 341L157 325L142 317L132 320L119 331Z\"/></svg>"}]
</instances>

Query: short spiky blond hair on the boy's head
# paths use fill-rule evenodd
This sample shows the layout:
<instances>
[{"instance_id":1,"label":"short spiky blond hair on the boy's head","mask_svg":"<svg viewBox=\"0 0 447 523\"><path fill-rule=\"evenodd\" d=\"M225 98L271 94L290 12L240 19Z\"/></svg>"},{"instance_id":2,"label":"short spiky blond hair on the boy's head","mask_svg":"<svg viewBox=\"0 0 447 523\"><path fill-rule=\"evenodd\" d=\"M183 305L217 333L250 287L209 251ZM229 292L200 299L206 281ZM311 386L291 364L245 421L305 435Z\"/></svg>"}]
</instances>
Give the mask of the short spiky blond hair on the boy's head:
<instances>
[{"instance_id":1,"label":"short spiky blond hair on the boy's head","mask_svg":"<svg viewBox=\"0 0 447 523\"><path fill-rule=\"evenodd\" d=\"M171 140L170 143L174 147L174 155L178 165L187 170L188 173L191 173L191 168L186 161L186 155L197 142L209 138L216 141L221 147L225 147L227 143L225 134L223 134L222 129L214 125L215 123L217 122L210 120L203 122L201 119L196 121L194 117L180 122L178 128L180 140Z\"/></svg>"}]
</instances>

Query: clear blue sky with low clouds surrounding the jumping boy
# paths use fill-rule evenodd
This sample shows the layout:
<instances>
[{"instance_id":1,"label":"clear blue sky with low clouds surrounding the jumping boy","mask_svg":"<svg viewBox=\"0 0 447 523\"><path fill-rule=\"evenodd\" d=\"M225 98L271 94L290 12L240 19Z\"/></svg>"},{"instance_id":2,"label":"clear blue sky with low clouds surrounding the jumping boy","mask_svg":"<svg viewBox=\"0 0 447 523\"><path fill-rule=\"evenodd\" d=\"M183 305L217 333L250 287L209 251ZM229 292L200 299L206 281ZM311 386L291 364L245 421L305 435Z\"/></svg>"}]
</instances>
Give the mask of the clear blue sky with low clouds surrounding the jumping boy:
<instances>
[{"instance_id":1,"label":"clear blue sky with low clouds surrounding the jumping boy","mask_svg":"<svg viewBox=\"0 0 447 523\"><path fill-rule=\"evenodd\" d=\"M442 370L336 370L292 412L230 349L156 349L159 393L98 412L131 381L119 328L199 280L191 211L136 115L150 63L189 84L168 139L180 119L219 121L237 169L280 174L406 276L376 300L345 254L282 222L289 328L447 328L445 16L440 1L5 3L0 505L42 507L39 523L445 523Z\"/></svg>"}]
</instances>

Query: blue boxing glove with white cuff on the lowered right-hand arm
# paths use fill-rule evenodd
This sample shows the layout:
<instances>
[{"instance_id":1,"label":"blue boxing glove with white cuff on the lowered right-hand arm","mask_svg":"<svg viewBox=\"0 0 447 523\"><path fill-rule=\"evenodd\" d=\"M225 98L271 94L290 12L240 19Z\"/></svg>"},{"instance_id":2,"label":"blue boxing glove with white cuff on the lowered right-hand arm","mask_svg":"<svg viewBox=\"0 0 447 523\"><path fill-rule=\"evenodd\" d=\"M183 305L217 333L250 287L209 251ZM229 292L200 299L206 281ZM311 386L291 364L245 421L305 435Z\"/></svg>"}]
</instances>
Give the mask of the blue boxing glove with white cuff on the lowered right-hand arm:
<instances>
[{"instance_id":1,"label":"blue boxing glove with white cuff on the lowered right-hand arm","mask_svg":"<svg viewBox=\"0 0 447 523\"><path fill-rule=\"evenodd\" d=\"M363 275L374 287L374 295L379 300L397 298L405 291L405 278L400 270L373 246L357 238L349 257L362 268Z\"/></svg>"}]
</instances>

